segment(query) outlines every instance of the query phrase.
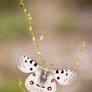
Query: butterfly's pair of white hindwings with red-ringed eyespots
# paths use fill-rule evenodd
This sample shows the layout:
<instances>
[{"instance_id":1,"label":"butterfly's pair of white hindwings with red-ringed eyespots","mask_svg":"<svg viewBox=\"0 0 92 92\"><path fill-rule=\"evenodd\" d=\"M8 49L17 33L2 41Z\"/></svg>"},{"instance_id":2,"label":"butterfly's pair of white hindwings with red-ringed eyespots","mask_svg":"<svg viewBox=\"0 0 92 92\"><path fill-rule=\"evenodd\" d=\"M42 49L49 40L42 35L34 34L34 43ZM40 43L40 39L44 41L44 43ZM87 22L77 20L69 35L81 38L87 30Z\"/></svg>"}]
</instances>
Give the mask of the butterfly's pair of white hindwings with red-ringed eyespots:
<instances>
[{"instance_id":1,"label":"butterfly's pair of white hindwings with red-ringed eyespots","mask_svg":"<svg viewBox=\"0 0 92 92\"><path fill-rule=\"evenodd\" d=\"M55 92L56 83L53 75L50 75L45 82L40 80L41 71L36 70L25 81L25 86L29 92Z\"/></svg>"}]
</instances>

